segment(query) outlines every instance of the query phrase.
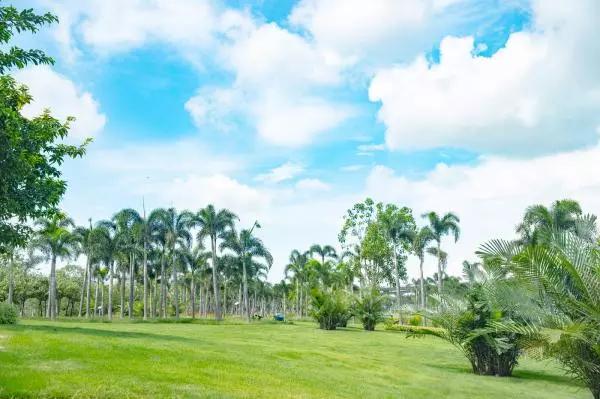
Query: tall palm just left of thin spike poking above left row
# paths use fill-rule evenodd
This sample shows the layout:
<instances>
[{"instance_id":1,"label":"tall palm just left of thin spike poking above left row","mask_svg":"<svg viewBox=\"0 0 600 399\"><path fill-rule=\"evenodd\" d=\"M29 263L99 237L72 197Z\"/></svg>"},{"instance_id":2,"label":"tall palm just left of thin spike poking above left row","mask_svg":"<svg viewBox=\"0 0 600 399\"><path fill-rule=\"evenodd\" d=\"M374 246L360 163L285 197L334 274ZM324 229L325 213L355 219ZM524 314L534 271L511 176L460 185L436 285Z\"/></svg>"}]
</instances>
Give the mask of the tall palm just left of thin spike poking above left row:
<instances>
[{"instance_id":1,"label":"tall palm just left of thin spike poking above left row","mask_svg":"<svg viewBox=\"0 0 600 399\"><path fill-rule=\"evenodd\" d=\"M133 300L135 296L135 255L139 250L142 226L139 213L134 209L122 209L113 218L120 250L129 260L129 318L133 318Z\"/></svg>"}]
</instances>

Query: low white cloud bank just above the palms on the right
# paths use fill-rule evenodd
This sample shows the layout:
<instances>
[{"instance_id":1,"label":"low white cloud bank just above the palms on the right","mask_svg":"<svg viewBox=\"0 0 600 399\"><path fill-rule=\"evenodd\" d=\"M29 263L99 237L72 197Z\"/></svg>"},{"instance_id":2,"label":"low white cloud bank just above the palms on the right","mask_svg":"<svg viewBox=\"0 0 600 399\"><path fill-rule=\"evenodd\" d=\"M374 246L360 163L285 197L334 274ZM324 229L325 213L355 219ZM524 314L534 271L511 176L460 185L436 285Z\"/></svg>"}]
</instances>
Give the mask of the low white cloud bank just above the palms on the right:
<instances>
[{"instance_id":1,"label":"low white cloud bank just above the palms on the right","mask_svg":"<svg viewBox=\"0 0 600 399\"><path fill-rule=\"evenodd\" d=\"M514 237L515 226L529 205L572 198L580 201L586 212L600 215L598 159L599 146L531 160L484 158L475 166L440 164L420 180L377 166L367 178L365 193L380 201L410 206L417 219L430 210L457 213L461 238L457 244L447 239L444 249L449 253L449 271L459 275L461 262L474 259L482 243ZM428 273L434 272L434 264L427 261ZM416 266L413 260L413 276Z\"/></svg>"}]
</instances>

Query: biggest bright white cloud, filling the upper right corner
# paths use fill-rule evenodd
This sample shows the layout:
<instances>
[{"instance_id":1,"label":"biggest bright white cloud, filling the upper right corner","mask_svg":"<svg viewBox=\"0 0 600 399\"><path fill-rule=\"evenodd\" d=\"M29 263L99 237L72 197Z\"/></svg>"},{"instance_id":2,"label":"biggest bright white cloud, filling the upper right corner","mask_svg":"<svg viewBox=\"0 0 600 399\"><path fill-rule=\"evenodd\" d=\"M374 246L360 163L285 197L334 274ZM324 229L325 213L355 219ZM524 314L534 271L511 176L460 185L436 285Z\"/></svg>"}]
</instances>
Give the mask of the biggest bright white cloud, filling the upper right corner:
<instances>
[{"instance_id":1,"label":"biggest bright white cloud, filling the upper right corner","mask_svg":"<svg viewBox=\"0 0 600 399\"><path fill-rule=\"evenodd\" d=\"M381 102L386 144L532 153L594 143L598 15L593 0L538 1L533 30L513 33L492 57L475 55L471 37L446 37L439 64L421 56L380 70L369 98Z\"/></svg>"}]
</instances>

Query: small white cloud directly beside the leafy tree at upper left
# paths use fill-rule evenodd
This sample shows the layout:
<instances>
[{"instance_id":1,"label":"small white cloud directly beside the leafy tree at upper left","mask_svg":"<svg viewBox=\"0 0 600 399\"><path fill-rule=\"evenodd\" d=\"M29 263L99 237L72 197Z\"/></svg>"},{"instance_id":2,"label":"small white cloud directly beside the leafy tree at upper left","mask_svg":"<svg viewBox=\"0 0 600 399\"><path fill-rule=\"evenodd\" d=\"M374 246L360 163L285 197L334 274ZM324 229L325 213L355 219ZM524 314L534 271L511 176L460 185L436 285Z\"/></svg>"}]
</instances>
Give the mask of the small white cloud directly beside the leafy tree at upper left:
<instances>
[{"instance_id":1,"label":"small white cloud directly beside the leafy tree at upper left","mask_svg":"<svg viewBox=\"0 0 600 399\"><path fill-rule=\"evenodd\" d=\"M23 115L34 117L49 108L60 120L73 116L69 137L81 140L98 135L106 124L106 116L92 94L78 88L67 77L48 66L36 66L17 71L17 81L29 87L33 102L23 108Z\"/></svg>"}]
</instances>

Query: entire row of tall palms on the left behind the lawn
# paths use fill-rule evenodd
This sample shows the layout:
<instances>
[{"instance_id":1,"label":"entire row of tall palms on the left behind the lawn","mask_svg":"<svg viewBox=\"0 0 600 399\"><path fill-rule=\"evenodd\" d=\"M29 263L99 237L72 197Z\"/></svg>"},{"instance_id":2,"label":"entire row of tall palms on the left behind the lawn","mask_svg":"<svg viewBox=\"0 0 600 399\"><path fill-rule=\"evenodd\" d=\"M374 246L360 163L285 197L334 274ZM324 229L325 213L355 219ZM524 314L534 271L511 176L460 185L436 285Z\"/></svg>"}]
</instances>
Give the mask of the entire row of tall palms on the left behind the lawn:
<instances>
[{"instance_id":1,"label":"entire row of tall palms on the left behind the lawn","mask_svg":"<svg viewBox=\"0 0 600 399\"><path fill-rule=\"evenodd\" d=\"M65 214L36 222L37 232L31 245L41 251L50 263L50 277L46 315L58 315L56 300L56 264L60 259L85 256L86 266L81 290L80 316L90 317L92 275L105 270L108 276L107 317L113 318L114 280L121 288L121 316L124 315L125 282L128 283L127 314L133 317L136 297L136 280L142 279L143 318L167 317L168 284L172 287L171 303L174 315L180 317L180 276L190 275L190 300L192 317L195 316L197 284L205 288L205 296L212 297L215 318L223 318L221 276L235 277L243 287L243 305L246 318L250 318L248 281L264 278L273 258L264 243L253 235L260 227L237 231L237 216L228 209L217 210L213 205L197 213L178 212L174 208L159 208L146 215L134 209L123 209L110 220L101 220L88 226L75 226ZM210 243L207 250L207 243ZM170 272L170 278L167 273ZM152 273L152 276L150 276ZM208 287L210 275L212 290ZM149 284L154 280L159 288L158 312L150 314ZM232 277L232 278L233 278ZM158 287L159 285L159 287ZM85 303L85 308L84 308ZM206 304L205 304L206 306Z\"/></svg>"}]
</instances>

